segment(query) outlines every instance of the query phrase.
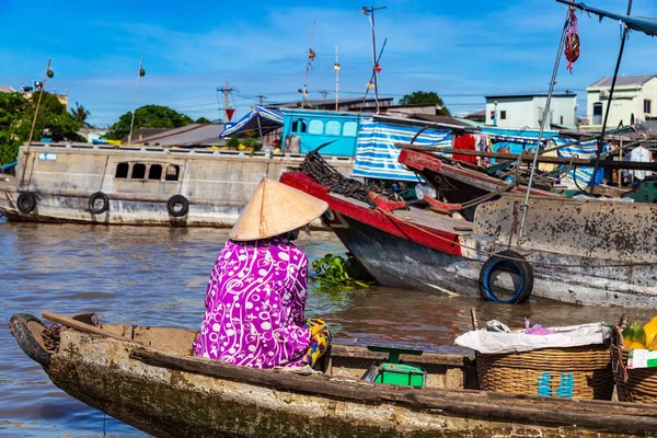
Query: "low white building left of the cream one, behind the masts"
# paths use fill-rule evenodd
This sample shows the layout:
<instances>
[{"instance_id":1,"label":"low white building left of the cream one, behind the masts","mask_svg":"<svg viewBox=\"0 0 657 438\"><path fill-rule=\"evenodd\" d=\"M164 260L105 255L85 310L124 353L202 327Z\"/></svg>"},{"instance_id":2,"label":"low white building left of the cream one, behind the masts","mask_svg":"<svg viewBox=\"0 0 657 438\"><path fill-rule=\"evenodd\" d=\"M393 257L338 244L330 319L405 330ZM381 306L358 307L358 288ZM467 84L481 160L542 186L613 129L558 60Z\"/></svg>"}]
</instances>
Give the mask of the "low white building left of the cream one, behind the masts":
<instances>
[{"instance_id":1,"label":"low white building left of the cream one, behind the masts","mask_svg":"<svg viewBox=\"0 0 657 438\"><path fill-rule=\"evenodd\" d=\"M486 125L539 129L548 94L486 96ZM553 94L545 129L574 128L577 94Z\"/></svg>"}]
</instances>

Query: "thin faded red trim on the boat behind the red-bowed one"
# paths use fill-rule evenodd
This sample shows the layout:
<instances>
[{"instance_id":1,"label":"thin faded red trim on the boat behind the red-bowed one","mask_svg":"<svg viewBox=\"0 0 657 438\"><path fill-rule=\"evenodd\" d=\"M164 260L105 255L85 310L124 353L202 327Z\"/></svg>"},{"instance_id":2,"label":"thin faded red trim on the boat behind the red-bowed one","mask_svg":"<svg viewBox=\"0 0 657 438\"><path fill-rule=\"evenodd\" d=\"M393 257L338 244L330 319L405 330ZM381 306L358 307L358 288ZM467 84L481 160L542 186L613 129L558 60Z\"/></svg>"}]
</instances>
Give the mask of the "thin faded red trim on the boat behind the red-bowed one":
<instances>
[{"instance_id":1,"label":"thin faded red trim on the boat behind the red-bowed one","mask_svg":"<svg viewBox=\"0 0 657 438\"><path fill-rule=\"evenodd\" d=\"M449 170L450 173L462 176L462 182L466 183L468 180L479 180L488 184L495 184L499 188L508 185L502 180L498 180L493 176L488 176L483 172L472 171L469 169L457 168L454 165L450 165L440 160L440 157L434 153L427 153L422 151L415 151L411 149L402 149L400 152L399 162L404 164L405 166L411 168L417 172L422 172L425 169L428 169L436 173L442 173L443 170ZM516 186L514 188L515 192L527 193L527 187L523 185ZM562 195L541 191L538 188L532 188L531 194L539 197L561 197Z\"/></svg>"}]
</instances>

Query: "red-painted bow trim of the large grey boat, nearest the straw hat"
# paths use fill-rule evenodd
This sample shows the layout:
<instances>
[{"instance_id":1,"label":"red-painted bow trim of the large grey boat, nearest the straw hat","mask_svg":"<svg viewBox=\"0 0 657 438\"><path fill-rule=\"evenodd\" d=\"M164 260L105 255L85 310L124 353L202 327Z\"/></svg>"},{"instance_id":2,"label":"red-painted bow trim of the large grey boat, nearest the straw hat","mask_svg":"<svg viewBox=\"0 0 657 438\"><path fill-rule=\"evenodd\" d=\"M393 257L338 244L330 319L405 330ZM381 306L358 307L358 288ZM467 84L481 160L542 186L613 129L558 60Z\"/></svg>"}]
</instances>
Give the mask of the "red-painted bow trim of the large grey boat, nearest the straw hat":
<instances>
[{"instance_id":1,"label":"red-painted bow trim of the large grey boat, nearest the straw hat","mask_svg":"<svg viewBox=\"0 0 657 438\"><path fill-rule=\"evenodd\" d=\"M379 210L366 208L348 200L336 198L331 196L331 193L326 187L318 184L314 180L301 172L284 172L280 175L280 182L314 196L315 198L325 200L328 203L328 208L345 217L366 223L389 234L396 235L397 238L410 240L423 246L428 246L433 250L451 255L463 255L461 246L459 246L458 234L410 223L400 217L385 215ZM403 217L404 212L397 211L397 215Z\"/></svg>"}]
</instances>

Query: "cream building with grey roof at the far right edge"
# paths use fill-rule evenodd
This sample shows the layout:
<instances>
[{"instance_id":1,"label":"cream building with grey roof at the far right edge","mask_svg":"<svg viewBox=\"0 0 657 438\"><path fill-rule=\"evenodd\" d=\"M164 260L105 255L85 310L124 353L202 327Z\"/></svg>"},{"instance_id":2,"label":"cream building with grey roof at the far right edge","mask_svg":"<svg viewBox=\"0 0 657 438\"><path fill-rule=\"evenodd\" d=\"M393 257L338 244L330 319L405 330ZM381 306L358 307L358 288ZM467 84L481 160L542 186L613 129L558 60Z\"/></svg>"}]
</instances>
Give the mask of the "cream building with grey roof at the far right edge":
<instances>
[{"instance_id":1,"label":"cream building with grey roof at the far right edge","mask_svg":"<svg viewBox=\"0 0 657 438\"><path fill-rule=\"evenodd\" d=\"M602 125L612 78L602 78L586 89L587 125ZM657 76L626 76L616 78L607 126L634 125L657 116Z\"/></svg>"}]
</instances>

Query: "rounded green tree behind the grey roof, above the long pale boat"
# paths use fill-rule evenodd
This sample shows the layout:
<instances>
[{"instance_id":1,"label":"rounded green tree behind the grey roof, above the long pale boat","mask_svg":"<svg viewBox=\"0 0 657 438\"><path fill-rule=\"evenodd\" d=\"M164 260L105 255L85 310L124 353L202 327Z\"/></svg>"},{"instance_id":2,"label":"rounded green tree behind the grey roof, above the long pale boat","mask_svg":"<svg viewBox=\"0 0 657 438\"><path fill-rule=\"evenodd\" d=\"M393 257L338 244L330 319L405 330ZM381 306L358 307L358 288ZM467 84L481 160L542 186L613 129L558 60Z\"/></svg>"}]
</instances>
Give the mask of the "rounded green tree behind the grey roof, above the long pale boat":
<instances>
[{"instance_id":1,"label":"rounded green tree behind the grey roof, above the long pale boat","mask_svg":"<svg viewBox=\"0 0 657 438\"><path fill-rule=\"evenodd\" d=\"M118 118L105 136L110 140L120 140L130 132L132 113L127 112ZM135 112L134 130L139 128L180 128L193 123L189 116L181 114L168 106L146 105Z\"/></svg>"}]
</instances>

